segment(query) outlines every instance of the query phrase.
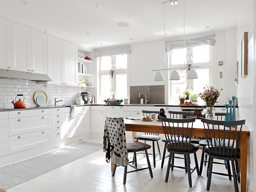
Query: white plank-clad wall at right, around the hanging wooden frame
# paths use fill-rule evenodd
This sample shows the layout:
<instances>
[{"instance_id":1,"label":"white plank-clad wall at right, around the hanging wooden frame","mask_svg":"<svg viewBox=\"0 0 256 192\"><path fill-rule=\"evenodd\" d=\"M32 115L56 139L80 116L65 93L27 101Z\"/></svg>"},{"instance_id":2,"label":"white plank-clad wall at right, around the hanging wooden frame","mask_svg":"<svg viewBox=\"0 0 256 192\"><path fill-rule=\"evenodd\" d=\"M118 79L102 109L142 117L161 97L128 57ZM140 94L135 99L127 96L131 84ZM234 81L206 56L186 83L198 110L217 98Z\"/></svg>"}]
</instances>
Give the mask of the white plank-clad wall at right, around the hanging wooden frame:
<instances>
[{"instance_id":1,"label":"white plank-clad wall at right, around the hanging wooden frame","mask_svg":"<svg viewBox=\"0 0 256 192\"><path fill-rule=\"evenodd\" d=\"M253 102L253 85L254 85L254 17L253 17L253 0L241 3L239 12L239 20L237 22L237 42L236 42L236 58L239 62L237 97L239 106L239 119L246 119L245 125L251 131L248 137L248 162L247 162L247 184L248 191L253 190L253 122L254 122L254 102ZM248 32L248 75L241 78L241 41L244 32Z\"/></svg>"}]
</instances>

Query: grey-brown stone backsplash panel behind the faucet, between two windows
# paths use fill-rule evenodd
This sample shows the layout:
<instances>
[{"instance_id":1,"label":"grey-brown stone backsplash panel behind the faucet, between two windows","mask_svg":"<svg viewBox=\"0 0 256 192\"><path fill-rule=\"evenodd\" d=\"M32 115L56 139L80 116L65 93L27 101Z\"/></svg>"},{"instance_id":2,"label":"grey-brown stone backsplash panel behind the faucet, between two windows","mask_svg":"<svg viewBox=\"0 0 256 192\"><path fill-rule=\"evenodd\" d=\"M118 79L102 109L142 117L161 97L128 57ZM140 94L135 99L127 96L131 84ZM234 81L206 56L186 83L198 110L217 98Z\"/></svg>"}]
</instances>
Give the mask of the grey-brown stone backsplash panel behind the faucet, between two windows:
<instances>
[{"instance_id":1,"label":"grey-brown stone backsplash panel behind the faucet, between two windows","mask_svg":"<svg viewBox=\"0 0 256 192\"><path fill-rule=\"evenodd\" d=\"M140 93L147 94L147 104L164 104L164 85L130 86L130 104L140 104ZM140 97L145 102L145 94Z\"/></svg>"}]
</instances>

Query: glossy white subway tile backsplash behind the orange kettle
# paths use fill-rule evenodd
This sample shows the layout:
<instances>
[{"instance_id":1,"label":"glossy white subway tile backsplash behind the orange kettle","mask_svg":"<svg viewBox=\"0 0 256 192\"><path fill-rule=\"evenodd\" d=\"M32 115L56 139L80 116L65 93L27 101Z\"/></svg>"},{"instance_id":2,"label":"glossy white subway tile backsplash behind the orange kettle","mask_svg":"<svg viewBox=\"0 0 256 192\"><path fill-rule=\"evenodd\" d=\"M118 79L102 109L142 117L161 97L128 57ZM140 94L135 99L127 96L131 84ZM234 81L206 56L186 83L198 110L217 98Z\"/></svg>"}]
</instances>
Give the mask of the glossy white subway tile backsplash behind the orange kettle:
<instances>
[{"instance_id":1,"label":"glossy white subway tile backsplash behind the orange kettle","mask_svg":"<svg viewBox=\"0 0 256 192\"><path fill-rule=\"evenodd\" d=\"M84 92L81 87L75 86L53 85L51 89L45 89L44 85L37 85L34 81L0 79L0 109L13 107L11 102L13 99L15 101L17 94L23 94L27 107L38 106L34 100L37 90L43 90L46 93L48 97L46 106L54 105L56 97L58 97L57 100L63 100L58 102L59 105L75 104L77 94Z\"/></svg>"}]
</instances>

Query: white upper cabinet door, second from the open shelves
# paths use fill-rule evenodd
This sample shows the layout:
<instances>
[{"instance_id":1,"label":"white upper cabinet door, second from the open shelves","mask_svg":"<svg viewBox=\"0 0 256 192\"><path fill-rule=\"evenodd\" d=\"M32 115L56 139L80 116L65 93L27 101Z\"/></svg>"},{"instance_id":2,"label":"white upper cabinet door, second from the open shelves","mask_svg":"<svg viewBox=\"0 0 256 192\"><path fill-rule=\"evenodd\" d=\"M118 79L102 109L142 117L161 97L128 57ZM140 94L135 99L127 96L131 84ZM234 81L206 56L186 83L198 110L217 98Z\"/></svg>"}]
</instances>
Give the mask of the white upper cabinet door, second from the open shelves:
<instances>
[{"instance_id":1,"label":"white upper cabinet door, second from the open shelves","mask_svg":"<svg viewBox=\"0 0 256 192\"><path fill-rule=\"evenodd\" d=\"M64 41L58 37L47 35L48 76L50 83L64 85Z\"/></svg>"}]
</instances>

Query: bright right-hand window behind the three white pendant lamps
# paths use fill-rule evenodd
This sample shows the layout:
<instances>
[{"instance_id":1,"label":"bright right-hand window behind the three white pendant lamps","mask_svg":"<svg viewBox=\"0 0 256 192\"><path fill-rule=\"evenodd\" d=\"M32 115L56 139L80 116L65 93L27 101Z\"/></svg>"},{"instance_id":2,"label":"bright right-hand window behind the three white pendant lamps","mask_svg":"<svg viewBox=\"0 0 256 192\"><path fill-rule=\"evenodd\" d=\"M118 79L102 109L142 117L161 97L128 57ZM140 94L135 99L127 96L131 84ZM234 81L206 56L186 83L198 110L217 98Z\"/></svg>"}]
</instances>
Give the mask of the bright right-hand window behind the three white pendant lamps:
<instances>
[{"instance_id":1,"label":"bright right-hand window behind the three white pendant lamps","mask_svg":"<svg viewBox=\"0 0 256 192\"><path fill-rule=\"evenodd\" d=\"M187 80L186 70L179 70L180 80L170 82L170 99L171 104L179 104L178 95L182 95L185 90L190 93L199 93L203 90L206 84L211 84L211 46L203 45L193 47L191 52L187 48L173 50L170 52L170 67L184 67L184 64L191 63L192 66L200 66L194 68L198 79ZM204 105L204 102L198 99L199 105Z\"/></svg>"}]
</instances>

